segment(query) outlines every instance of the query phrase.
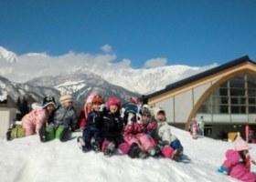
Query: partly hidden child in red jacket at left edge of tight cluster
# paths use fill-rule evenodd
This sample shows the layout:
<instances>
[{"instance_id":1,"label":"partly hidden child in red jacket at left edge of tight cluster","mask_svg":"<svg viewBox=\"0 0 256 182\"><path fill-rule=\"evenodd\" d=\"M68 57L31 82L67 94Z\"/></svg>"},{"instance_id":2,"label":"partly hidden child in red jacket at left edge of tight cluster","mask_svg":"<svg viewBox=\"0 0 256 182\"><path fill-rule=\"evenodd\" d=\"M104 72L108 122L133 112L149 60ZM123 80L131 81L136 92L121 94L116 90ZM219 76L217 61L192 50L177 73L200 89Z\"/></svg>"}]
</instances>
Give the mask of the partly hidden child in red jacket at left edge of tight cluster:
<instances>
[{"instance_id":1,"label":"partly hidden child in red jacket at left edge of tight cluster","mask_svg":"<svg viewBox=\"0 0 256 182\"><path fill-rule=\"evenodd\" d=\"M80 111L80 116L79 116L79 120L78 120L78 128L80 128L80 130L82 131L86 125L87 125L87 119L88 119L88 115L89 113L91 113L91 102L93 97L96 96L96 93L91 93L83 106L83 110Z\"/></svg>"}]
</instances>

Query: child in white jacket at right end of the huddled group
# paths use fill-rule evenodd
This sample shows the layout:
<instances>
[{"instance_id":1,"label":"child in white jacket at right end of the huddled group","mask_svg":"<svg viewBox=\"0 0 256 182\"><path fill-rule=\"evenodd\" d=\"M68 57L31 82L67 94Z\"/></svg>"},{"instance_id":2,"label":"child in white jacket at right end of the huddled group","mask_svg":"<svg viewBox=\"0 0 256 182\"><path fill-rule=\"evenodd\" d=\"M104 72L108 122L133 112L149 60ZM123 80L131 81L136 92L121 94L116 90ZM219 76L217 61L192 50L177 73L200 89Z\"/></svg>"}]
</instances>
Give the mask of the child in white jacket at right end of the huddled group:
<instances>
[{"instance_id":1,"label":"child in white jacket at right end of the huddled group","mask_svg":"<svg viewBox=\"0 0 256 182\"><path fill-rule=\"evenodd\" d=\"M157 121L157 137L164 157L170 157L179 161L183 156L183 147L178 138L171 133L171 126L166 122L165 110L155 108Z\"/></svg>"}]
</instances>

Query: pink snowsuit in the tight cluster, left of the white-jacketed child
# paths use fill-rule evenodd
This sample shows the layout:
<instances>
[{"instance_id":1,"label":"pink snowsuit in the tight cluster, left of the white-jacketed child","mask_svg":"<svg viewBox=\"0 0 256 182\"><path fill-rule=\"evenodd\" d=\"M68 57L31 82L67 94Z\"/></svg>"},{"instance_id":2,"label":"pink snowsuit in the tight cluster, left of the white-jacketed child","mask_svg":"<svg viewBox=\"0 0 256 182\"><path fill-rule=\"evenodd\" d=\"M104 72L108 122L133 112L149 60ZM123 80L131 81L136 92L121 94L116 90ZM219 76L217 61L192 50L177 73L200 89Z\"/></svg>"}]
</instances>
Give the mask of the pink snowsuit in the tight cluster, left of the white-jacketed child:
<instances>
[{"instance_id":1,"label":"pink snowsuit in the tight cluster, left of the white-jacketed child","mask_svg":"<svg viewBox=\"0 0 256 182\"><path fill-rule=\"evenodd\" d=\"M124 127L123 139L129 146L136 143L144 151L155 147L155 140L144 133L143 124L138 124L136 122L127 124Z\"/></svg>"}]
</instances>

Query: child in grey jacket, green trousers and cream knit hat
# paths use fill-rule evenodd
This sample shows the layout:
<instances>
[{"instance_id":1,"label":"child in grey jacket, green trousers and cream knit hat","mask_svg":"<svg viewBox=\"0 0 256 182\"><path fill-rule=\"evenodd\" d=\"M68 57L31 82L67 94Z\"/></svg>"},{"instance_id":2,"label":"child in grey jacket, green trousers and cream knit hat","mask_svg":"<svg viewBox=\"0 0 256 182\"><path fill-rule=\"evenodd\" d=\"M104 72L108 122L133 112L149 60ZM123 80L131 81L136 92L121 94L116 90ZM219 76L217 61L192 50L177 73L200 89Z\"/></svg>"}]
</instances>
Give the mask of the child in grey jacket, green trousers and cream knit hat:
<instances>
[{"instance_id":1,"label":"child in grey jacket, green trousers and cream knit hat","mask_svg":"<svg viewBox=\"0 0 256 182\"><path fill-rule=\"evenodd\" d=\"M54 113L55 137L60 141L69 139L70 132L77 126L77 115L73 107L73 97L69 94L59 97L60 106Z\"/></svg>"}]
</instances>

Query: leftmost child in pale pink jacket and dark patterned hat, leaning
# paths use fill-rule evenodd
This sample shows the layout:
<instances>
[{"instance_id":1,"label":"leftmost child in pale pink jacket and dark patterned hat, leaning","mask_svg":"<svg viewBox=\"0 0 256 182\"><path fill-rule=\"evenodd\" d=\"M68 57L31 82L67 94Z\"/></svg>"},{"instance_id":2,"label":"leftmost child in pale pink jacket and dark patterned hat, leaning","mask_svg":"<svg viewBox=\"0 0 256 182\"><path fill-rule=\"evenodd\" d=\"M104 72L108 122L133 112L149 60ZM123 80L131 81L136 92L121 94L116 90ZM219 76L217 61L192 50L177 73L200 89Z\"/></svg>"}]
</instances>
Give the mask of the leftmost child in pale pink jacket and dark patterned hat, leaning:
<instances>
[{"instance_id":1,"label":"leftmost child in pale pink jacket and dark patterned hat, leaning","mask_svg":"<svg viewBox=\"0 0 256 182\"><path fill-rule=\"evenodd\" d=\"M33 109L21 120L25 135L38 134L39 129L47 122L48 117L56 109L56 102L53 96L45 96L42 108Z\"/></svg>"}]
</instances>

